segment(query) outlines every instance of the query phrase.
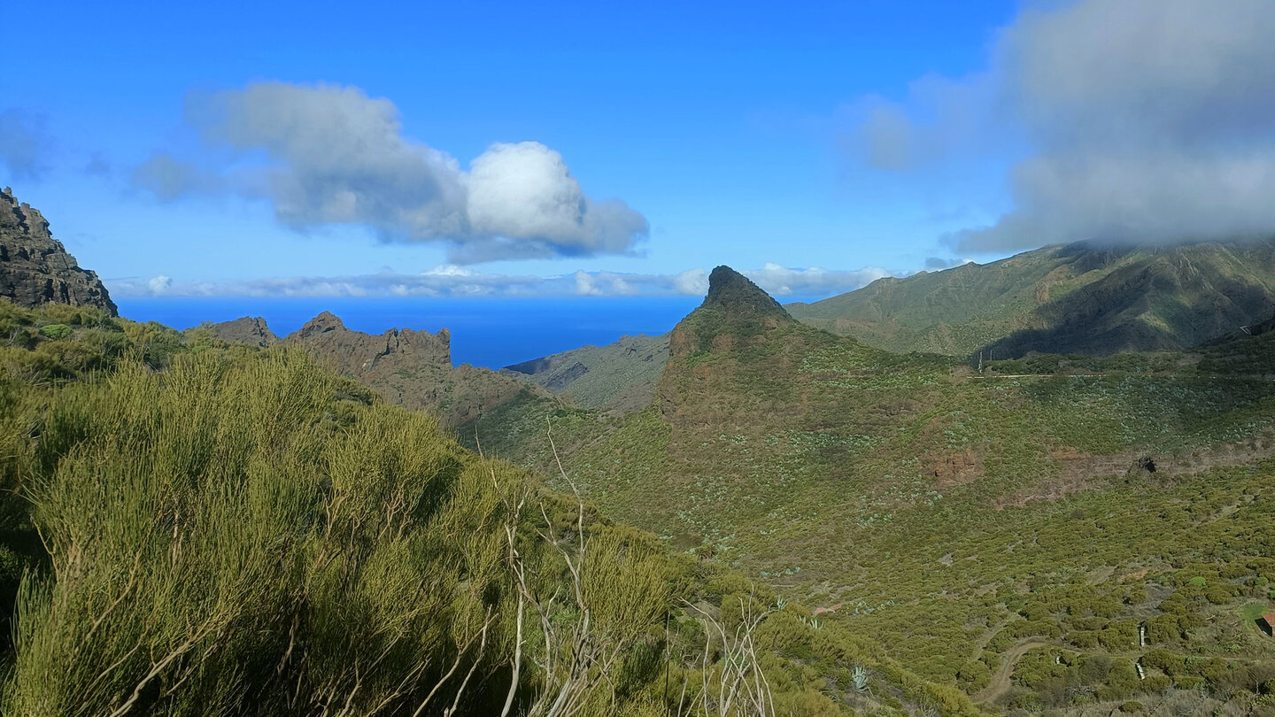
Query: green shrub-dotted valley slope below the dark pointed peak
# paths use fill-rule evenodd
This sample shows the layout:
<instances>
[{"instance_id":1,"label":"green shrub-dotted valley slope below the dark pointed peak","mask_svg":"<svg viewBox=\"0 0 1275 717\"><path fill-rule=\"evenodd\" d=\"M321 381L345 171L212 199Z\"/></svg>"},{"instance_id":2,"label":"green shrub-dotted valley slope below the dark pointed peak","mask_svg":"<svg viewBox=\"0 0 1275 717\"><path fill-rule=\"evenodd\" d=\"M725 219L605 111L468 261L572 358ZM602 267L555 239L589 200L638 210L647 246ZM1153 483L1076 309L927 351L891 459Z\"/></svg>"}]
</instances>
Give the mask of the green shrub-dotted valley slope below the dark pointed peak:
<instances>
[{"instance_id":1,"label":"green shrub-dotted valley slope below the dark pointed peak","mask_svg":"<svg viewBox=\"0 0 1275 717\"><path fill-rule=\"evenodd\" d=\"M652 408L552 426L604 513L989 706L1247 711L1275 677L1246 617L1275 607L1272 356L1267 334L977 374L706 301Z\"/></svg>"}]
</instances>

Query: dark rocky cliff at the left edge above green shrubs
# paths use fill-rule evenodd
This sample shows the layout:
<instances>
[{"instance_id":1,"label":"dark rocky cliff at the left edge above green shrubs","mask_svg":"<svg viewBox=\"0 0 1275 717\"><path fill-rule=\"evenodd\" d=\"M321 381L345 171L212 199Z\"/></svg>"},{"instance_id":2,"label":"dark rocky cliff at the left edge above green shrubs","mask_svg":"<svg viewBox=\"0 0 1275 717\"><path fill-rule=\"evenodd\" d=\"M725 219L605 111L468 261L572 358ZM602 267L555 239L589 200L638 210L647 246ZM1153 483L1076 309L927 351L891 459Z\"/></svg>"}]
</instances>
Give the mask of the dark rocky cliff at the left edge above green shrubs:
<instances>
[{"instance_id":1,"label":"dark rocky cliff at the left edge above green shrubs","mask_svg":"<svg viewBox=\"0 0 1275 717\"><path fill-rule=\"evenodd\" d=\"M119 315L97 274L82 269L48 233L40 211L19 204L9 188L0 190L0 297L22 306L97 306Z\"/></svg>"}]
</instances>

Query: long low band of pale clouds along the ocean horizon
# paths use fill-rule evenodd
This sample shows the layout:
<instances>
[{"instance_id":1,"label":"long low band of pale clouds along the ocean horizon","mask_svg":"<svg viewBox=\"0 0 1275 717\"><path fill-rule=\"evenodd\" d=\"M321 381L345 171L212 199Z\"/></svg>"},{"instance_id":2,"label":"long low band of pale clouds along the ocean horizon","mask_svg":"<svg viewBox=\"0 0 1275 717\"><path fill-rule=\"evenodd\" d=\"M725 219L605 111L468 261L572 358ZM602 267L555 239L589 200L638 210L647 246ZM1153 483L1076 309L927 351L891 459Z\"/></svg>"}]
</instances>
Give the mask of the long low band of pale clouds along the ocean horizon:
<instances>
[{"instance_id":1,"label":"long low band of pale clouds along the ocean horizon","mask_svg":"<svg viewBox=\"0 0 1275 717\"><path fill-rule=\"evenodd\" d=\"M743 272L776 296L841 293L889 276L884 269L790 269L768 263ZM125 296L701 296L708 291L708 270L674 274L575 272L537 277L477 272L444 264L421 273L385 270L335 277L278 277L228 282L182 282L167 276L108 278L112 295Z\"/></svg>"}]
</instances>

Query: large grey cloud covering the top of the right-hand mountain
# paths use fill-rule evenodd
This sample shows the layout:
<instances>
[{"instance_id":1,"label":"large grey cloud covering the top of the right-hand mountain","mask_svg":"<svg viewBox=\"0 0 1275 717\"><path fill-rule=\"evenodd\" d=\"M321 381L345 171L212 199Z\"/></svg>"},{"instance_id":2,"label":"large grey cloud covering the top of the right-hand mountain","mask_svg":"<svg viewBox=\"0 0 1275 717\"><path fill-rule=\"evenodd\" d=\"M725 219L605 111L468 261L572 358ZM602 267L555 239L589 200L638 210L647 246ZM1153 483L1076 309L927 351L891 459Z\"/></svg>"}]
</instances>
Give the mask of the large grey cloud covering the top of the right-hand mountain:
<instances>
[{"instance_id":1,"label":"large grey cloud covering the top of the right-hand mountain","mask_svg":"<svg viewBox=\"0 0 1275 717\"><path fill-rule=\"evenodd\" d=\"M1028 148L1014 209L960 251L1072 240L1170 244L1275 232L1275 3L1031 5L986 71L864 102L856 139L913 170L997 143Z\"/></svg>"}]
</instances>

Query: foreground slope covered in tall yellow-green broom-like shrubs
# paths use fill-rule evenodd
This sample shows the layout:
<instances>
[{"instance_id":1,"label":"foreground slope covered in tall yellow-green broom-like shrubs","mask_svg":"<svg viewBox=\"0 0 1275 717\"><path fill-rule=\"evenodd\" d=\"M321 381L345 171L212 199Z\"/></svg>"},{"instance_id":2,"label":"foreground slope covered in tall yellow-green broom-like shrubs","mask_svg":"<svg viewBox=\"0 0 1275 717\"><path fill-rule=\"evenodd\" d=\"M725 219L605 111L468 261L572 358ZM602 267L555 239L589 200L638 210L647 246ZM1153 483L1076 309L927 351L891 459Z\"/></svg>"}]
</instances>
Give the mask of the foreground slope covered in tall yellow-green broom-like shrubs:
<instances>
[{"instance_id":1,"label":"foreground slope covered in tall yellow-green broom-like shrubs","mask_svg":"<svg viewBox=\"0 0 1275 717\"><path fill-rule=\"evenodd\" d=\"M0 322L5 714L979 713L296 348Z\"/></svg>"}]
</instances>

